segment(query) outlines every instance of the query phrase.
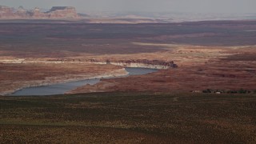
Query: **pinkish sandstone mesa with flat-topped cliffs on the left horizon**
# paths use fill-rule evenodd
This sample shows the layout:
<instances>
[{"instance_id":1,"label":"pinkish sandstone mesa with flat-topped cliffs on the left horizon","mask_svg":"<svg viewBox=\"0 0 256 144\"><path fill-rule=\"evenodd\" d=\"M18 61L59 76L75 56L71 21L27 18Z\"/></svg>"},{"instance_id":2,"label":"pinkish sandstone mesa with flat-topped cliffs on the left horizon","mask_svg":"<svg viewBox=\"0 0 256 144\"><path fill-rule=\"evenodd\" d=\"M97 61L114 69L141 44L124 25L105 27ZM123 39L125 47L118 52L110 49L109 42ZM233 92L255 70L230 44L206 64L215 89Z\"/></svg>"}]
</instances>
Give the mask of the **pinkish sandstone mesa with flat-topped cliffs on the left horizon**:
<instances>
[{"instance_id":1,"label":"pinkish sandstone mesa with flat-topped cliffs on the left horizon","mask_svg":"<svg viewBox=\"0 0 256 144\"><path fill-rule=\"evenodd\" d=\"M54 6L49 11L42 12L38 7L26 10L22 6L14 9L0 6L0 19L77 19L78 14L72 6Z\"/></svg>"}]
</instances>

